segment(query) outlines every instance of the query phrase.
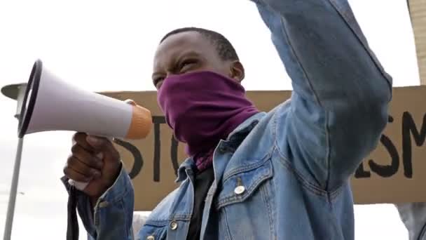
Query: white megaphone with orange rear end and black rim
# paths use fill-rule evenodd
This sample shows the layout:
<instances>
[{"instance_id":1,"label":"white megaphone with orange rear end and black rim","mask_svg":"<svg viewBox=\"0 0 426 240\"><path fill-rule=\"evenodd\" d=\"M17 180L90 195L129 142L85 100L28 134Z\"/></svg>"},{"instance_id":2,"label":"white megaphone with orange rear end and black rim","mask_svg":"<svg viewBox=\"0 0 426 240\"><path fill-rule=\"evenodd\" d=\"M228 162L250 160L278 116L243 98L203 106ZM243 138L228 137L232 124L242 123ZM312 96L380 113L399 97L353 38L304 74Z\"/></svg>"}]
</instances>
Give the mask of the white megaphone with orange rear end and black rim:
<instances>
[{"instance_id":1,"label":"white megaphone with orange rear end and black rim","mask_svg":"<svg viewBox=\"0 0 426 240\"><path fill-rule=\"evenodd\" d=\"M142 139L151 126L148 109L72 86L36 60L22 101L18 136L76 131L107 138Z\"/></svg>"}]
</instances>

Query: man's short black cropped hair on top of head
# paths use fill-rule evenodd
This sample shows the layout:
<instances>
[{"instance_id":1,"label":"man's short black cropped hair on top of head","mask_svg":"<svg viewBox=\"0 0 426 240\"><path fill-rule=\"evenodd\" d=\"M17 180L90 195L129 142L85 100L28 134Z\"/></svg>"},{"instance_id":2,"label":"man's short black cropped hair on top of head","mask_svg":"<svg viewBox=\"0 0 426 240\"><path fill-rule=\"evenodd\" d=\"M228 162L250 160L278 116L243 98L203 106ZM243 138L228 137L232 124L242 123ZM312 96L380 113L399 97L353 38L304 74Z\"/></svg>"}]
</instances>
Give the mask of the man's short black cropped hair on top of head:
<instances>
[{"instance_id":1,"label":"man's short black cropped hair on top of head","mask_svg":"<svg viewBox=\"0 0 426 240\"><path fill-rule=\"evenodd\" d=\"M167 39L167 37L178 34L181 32L198 32L202 36L204 36L206 39L212 42L214 46L216 46L217 53L219 53L219 57L222 60L240 60L238 58L237 51L235 51L235 48L232 46L231 42L226 39L226 37L222 34L219 34L219 32L214 32L212 30L203 29L199 27L182 27L178 29L174 29L173 31L165 34L163 36L163 39L161 39L160 44Z\"/></svg>"}]
</instances>

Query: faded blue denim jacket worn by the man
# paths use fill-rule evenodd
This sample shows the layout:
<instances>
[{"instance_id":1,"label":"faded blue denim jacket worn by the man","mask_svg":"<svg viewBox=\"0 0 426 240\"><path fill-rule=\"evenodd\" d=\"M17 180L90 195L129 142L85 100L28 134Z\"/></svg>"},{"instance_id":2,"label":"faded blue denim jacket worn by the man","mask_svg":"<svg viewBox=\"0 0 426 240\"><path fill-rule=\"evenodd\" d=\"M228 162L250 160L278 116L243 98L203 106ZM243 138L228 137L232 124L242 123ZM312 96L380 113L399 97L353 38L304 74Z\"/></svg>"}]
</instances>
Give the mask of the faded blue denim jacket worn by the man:
<instances>
[{"instance_id":1,"label":"faded blue denim jacket worn by the man","mask_svg":"<svg viewBox=\"0 0 426 240\"><path fill-rule=\"evenodd\" d=\"M387 124L392 79L347 1L254 2L294 91L217 145L200 238L354 239L350 176ZM181 164L179 187L152 211L139 239L186 239L193 168L192 159ZM133 202L124 169L93 218L81 196L78 212L89 239L132 239Z\"/></svg>"}]
</instances>

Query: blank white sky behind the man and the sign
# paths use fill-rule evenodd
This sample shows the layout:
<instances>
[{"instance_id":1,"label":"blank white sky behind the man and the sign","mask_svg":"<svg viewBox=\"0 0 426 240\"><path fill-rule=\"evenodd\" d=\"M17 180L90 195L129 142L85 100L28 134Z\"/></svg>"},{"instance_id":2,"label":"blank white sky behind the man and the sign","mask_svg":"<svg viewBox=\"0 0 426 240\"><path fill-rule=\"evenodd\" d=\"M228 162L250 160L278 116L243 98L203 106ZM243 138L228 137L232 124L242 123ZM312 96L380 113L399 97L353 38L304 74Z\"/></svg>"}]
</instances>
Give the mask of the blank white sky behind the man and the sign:
<instances>
[{"instance_id":1,"label":"blank white sky behind the man and the sign","mask_svg":"<svg viewBox=\"0 0 426 240\"><path fill-rule=\"evenodd\" d=\"M145 4L144 4L145 3ZM418 85L406 0L350 1L394 86ZM90 91L144 91L151 60L171 29L214 29L231 40L247 70L248 90L291 89L254 4L215 1L0 1L0 86L27 81L36 58ZM15 102L0 96L0 233L4 230L17 143ZM64 239L67 194L60 183L71 133L25 139L13 239ZM391 205L355 206L356 239L407 239ZM81 228L83 229L83 228ZM81 239L83 239L83 234Z\"/></svg>"}]
</instances>

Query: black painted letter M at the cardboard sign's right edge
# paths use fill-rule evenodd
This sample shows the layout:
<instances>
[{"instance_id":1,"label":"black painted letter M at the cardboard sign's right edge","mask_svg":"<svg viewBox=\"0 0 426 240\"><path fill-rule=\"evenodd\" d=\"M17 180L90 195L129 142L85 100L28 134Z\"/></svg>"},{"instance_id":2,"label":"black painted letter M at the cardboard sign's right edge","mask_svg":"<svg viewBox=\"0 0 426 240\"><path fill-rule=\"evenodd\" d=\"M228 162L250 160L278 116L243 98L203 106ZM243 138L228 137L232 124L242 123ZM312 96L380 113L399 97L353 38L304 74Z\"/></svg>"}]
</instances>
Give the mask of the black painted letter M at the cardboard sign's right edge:
<instances>
[{"instance_id":1,"label":"black painted letter M at the cardboard sign's right edge","mask_svg":"<svg viewBox=\"0 0 426 240\"><path fill-rule=\"evenodd\" d=\"M426 114L423 116L422 127L420 133L415 127L413 116L409 112L402 115L402 160L404 162L404 175L407 178L413 178L413 159L411 159L411 133L415 140L415 144L420 147L425 143L426 139Z\"/></svg>"}]
</instances>

